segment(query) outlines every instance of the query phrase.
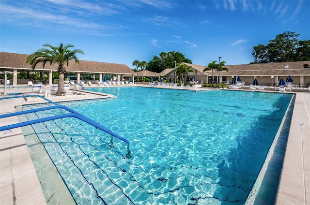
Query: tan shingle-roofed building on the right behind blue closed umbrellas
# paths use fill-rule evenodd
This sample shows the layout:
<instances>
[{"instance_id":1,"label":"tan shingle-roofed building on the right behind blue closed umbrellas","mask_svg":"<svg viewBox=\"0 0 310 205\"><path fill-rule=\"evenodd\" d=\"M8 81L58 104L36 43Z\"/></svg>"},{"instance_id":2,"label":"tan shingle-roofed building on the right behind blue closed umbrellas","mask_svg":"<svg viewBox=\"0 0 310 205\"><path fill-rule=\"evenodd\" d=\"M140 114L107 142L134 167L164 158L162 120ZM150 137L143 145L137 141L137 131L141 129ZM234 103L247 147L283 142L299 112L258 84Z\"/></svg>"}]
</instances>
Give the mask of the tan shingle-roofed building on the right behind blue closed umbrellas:
<instances>
[{"instance_id":1,"label":"tan shingle-roofed building on the right behind blue closed umbrellas","mask_svg":"<svg viewBox=\"0 0 310 205\"><path fill-rule=\"evenodd\" d=\"M212 70L203 73L203 70L207 66L195 65L190 63L182 63L192 67L194 72L187 73L187 80L191 76L195 77L195 80L201 82L212 81ZM233 77L240 76L242 80L251 84L255 78L260 83L271 83L271 76L274 76L273 83L279 81L281 78L284 80L291 75L294 79L294 84L310 86L310 61L298 61L298 62L279 62L279 63L259 63L259 64L244 64L244 65L225 65L228 72L220 72L221 83L231 81ZM213 71L215 79L218 78L218 72ZM174 69L167 73L167 78L174 78Z\"/></svg>"}]
</instances>

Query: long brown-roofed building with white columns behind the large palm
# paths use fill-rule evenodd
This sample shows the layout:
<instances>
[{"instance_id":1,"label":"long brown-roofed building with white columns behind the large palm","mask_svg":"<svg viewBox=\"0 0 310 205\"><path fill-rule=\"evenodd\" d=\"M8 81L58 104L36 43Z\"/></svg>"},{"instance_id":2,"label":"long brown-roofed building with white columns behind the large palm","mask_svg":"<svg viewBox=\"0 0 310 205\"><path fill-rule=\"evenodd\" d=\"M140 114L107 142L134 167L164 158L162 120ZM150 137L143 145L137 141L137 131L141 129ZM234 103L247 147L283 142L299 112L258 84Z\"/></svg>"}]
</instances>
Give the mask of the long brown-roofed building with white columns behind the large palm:
<instances>
[{"instance_id":1,"label":"long brown-roofed building with white columns behind the large palm","mask_svg":"<svg viewBox=\"0 0 310 205\"><path fill-rule=\"evenodd\" d=\"M0 71L1 72L13 72L14 79L13 84L17 85L17 72L44 72L49 74L49 82L51 85L53 73L57 73L58 64L50 65L46 64L43 68L42 64L38 64L35 69L31 68L30 64L26 63L26 58L29 55L0 52ZM77 81L79 83L80 77L86 74L91 74L92 77L96 77L99 81L102 81L102 75L110 75L113 78L117 78L120 81L122 75L130 75L134 77L136 73L130 69L127 65L117 63L105 63L95 62L87 60L79 60L79 65L74 60L69 61L69 65L65 66L66 73L74 73L77 75Z\"/></svg>"}]
</instances>

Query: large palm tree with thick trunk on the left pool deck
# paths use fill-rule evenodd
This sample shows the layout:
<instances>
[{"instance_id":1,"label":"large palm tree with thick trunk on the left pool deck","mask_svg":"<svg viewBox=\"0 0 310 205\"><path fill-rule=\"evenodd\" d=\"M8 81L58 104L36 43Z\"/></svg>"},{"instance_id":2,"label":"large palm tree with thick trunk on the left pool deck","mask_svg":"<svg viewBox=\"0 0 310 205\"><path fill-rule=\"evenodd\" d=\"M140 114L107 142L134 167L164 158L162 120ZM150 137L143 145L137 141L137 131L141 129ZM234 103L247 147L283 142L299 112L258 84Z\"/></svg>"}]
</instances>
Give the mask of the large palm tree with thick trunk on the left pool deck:
<instances>
[{"instance_id":1,"label":"large palm tree with thick trunk on the left pool deck","mask_svg":"<svg viewBox=\"0 0 310 205\"><path fill-rule=\"evenodd\" d=\"M59 73L59 77L56 95L63 96L66 94L64 91L64 74L66 73L64 64L67 63L68 66L69 60L75 60L75 62L79 65L79 60L76 54L84 54L84 52L80 49L75 49L73 51L69 50L68 48L74 47L72 44L63 45L61 43L59 47L52 46L50 44L44 44L43 46L51 49L41 48L36 52L31 53L31 55L27 57L26 63L30 63L32 69L34 69L38 63L42 63L43 68L47 62L50 65L58 64L57 72Z\"/></svg>"}]
</instances>

